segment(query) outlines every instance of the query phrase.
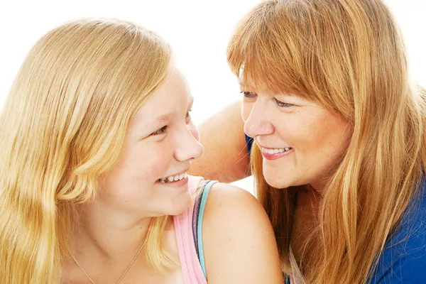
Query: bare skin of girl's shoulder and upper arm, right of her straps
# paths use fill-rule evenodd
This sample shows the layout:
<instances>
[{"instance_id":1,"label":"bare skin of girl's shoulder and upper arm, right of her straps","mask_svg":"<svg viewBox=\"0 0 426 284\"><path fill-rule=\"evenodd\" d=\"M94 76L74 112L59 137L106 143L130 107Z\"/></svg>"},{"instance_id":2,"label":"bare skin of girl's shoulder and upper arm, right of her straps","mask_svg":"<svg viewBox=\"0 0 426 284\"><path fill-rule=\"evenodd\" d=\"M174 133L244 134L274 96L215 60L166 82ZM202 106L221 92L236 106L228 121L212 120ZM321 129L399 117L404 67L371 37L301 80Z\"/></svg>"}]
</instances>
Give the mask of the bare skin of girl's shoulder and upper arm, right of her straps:
<instances>
[{"instance_id":1,"label":"bare skin of girl's shoulder and upper arm, right of her straps","mask_svg":"<svg viewBox=\"0 0 426 284\"><path fill-rule=\"evenodd\" d=\"M215 183L203 219L209 283L283 283L271 222L250 192Z\"/></svg>"}]
</instances>

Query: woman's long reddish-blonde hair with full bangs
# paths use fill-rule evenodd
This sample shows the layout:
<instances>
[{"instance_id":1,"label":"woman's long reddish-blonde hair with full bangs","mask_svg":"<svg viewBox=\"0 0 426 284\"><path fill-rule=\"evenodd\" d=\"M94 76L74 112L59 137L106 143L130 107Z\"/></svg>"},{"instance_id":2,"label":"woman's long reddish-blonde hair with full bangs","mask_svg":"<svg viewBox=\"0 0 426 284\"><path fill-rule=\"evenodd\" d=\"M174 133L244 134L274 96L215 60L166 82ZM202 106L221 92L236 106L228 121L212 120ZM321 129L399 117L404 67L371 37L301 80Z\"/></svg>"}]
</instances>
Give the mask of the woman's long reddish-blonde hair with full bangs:
<instances>
[{"instance_id":1,"label":"woman's long reddish-blonde hair with full bangs","mask_svg":"<svg viewBox=\"0 0 426 284\"><path fill-rule=\"evenodd\" d=\"M322 197L320 245L300 264L307 283L364 283L425 165L425 92L410 84L388 7L381 0L263 1L237 26L228 61L256 89L297 94L351 123L349 146ZM251 163L290 274L295 193L266 183L256 145Z\"/></svg>"}]
</instances>

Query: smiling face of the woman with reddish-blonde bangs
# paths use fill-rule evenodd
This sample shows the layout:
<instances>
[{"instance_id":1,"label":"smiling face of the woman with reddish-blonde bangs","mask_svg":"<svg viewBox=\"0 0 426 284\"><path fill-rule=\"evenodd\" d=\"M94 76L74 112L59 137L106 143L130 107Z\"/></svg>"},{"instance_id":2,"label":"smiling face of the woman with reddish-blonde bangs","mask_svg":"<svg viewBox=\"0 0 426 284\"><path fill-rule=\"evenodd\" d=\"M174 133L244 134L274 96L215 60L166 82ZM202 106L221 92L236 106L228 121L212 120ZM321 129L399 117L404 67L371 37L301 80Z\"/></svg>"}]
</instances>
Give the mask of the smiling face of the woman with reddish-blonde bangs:
<instances>
[{"instance_id":1,"label":"smiling face of the woman with reddish-blonde bangs","mask_svg":"<svg viewBox=\"0 0 426 284\"><path fill-rule=\"evenodd\" d=\"M244 131L262 151L266 182L322 190L346 150L348 122L300 97L254 92L243 85L241 91Z\"/></svg>"}]
</instances>

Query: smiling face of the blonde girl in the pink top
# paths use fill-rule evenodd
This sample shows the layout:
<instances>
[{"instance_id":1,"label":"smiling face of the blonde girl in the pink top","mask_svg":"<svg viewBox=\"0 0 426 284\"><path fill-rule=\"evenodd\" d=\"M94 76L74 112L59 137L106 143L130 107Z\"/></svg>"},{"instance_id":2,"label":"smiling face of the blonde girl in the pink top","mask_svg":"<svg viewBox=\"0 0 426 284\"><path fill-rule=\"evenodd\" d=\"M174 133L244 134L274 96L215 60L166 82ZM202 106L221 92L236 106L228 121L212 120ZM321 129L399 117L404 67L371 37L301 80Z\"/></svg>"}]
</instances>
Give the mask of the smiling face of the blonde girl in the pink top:
<instances>
[{"instance_id":1,"label":"smiling face of the blonde girl in the pink top","mask_svg":"<svg viewBox=\"0 0 426 284\"><path fill-rule=\"evenodd\" d=\"M99 201L144 216L180 214L190 206L186 173L203 151L192 102L185 79L170 67L131 120L118 163L100 178Z\"/></svg>"}]
</instances>

